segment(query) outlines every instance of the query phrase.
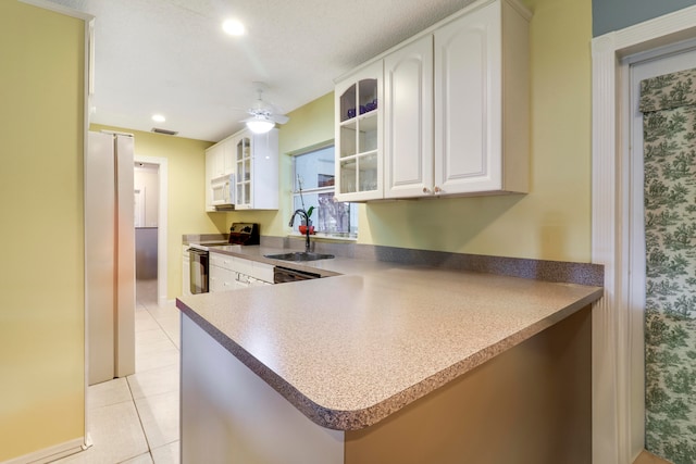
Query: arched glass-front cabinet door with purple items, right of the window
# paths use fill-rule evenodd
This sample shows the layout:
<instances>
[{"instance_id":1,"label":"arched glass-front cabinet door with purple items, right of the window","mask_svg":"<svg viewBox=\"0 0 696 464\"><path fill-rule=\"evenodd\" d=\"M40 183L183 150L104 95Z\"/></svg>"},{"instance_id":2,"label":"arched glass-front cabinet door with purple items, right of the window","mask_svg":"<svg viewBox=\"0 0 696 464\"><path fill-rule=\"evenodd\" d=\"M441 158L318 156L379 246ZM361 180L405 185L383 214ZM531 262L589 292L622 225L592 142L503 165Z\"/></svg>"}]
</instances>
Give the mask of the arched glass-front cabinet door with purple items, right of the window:
<instances>
[{"instance_id":1,"label":"arched glass-front cabinet door with purple items, right of the window","mask_svg":"<svg viewBox=\"0 0 696 464\"><path fill-rule=\"evenodd\" d=\"M378 61L336 85L336 199L383 197L382 75Z\"/></svg>"}]
</instances>

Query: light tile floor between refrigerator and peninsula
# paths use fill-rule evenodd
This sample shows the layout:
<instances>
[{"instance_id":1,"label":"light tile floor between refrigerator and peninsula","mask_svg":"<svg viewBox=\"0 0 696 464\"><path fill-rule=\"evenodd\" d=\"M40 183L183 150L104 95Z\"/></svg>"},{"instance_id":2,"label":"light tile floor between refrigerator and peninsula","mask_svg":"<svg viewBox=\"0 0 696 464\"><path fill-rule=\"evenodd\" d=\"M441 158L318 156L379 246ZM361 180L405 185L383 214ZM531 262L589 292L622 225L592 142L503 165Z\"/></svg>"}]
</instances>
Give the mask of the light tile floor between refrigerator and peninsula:
<instances>
[{"instance_id":1,"label":"light tile floor between refrigerator and peninsula","mask_svg":"<svg viewBox=\"0 0 696 464\"><path fill-rule=\"evenodd\" d=\"M136 286L136 373L87 391L92 447L60 464L178 464L179 318L157 304L157 281Z\"/></svg>"}]
</instances>

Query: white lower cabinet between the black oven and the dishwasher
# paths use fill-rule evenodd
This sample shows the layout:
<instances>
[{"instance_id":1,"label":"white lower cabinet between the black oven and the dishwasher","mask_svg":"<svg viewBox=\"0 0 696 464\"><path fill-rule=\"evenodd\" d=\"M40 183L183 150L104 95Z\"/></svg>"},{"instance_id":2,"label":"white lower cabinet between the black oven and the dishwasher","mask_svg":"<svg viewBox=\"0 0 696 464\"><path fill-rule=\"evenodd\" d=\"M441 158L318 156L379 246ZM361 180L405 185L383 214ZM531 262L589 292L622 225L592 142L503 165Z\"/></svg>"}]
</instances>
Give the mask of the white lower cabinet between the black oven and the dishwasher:
<instances>
[{"instance_id":1,"label":"white lower cabinet between the black oven and the dishwasher","mask_svg":"<svg viewBox=\"0 0 696 464\"><path fill-rule=\"evenodd\" d=\"M210 253L208 289L211 292L238 290L273 284L273 266L244 258Z\"/></svg>"}]
</instances>

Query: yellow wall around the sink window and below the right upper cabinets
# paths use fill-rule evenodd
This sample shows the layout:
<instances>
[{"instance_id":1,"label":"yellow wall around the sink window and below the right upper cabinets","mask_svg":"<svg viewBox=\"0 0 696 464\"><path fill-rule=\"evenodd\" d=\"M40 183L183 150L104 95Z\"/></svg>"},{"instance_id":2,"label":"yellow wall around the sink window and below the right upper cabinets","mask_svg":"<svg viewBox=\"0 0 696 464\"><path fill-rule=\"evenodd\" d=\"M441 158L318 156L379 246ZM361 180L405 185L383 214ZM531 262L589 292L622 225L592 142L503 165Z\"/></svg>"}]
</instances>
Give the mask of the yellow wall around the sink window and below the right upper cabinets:
<instances>
[{"instance_id":1,"label":"yellow wall around the sink window and below the right upper cabinets","mask_svg":"<svg viewBox=\"0 0 696 464\"><path fill-rule=\"evenodd\" d=\"M591 259L589 0L527 0L531 23L531 193L373 202L360 206L359 242L461 253ZM333 93L294 111L281 153L334 137ZM290 167L281 156L279 213L253 216L284 235Z\"/></svg>"}]
</instances>

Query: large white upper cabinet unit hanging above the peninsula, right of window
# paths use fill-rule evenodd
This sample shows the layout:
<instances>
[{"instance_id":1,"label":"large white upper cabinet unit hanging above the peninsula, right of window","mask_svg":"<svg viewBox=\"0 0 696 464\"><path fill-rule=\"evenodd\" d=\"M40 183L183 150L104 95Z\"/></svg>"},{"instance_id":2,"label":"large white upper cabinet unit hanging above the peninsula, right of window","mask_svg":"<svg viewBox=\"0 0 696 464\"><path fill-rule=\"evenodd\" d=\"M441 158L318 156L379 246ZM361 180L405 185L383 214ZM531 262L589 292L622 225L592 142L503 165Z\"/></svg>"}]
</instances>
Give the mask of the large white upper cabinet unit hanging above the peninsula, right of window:
<instances>
[{"instance_id":1,"label":"large white upper cabinet unit hanging above the peninsula, right of window","mask_svg":"<svg viewBox=\"0 0 696 464\"><path fill-rule=\"evenodd\" d=\"M515 0L482 0L360 68L370 70L377 85L382 76L384 85L376 152L370 152L376 185L383 177L384 187L370 195L344 196L364 174L338 167L360 158L359 148L344 143L362 134L360 126L349 134L353 126L344 115L358 77L338 81L337 183L347 183L339 199L526 192L530 17Z\"/></svg>"}]
</instances>

